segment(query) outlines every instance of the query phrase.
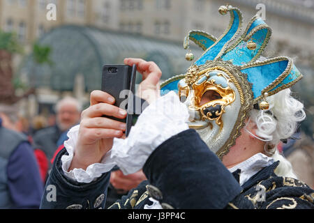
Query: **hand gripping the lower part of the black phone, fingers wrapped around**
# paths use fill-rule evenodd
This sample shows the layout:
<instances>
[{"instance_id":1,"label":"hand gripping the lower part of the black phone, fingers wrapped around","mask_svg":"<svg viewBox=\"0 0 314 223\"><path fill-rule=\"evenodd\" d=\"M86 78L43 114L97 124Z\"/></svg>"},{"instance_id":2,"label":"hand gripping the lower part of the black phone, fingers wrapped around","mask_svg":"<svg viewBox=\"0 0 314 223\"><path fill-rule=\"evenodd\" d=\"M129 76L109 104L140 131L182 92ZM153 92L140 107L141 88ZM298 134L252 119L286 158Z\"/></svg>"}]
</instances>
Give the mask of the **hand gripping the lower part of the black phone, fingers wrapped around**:
<instances>
[{"instance_id":1,"label":"hand gripping the lower part of the black phone, fingers wrapped around","mask_svg":"<svg viewBox=\"0 0 314 223\"><path fill-rule=\"evenodd\" d=\"M98 163L110 151L114 138L121 138L126 123L103 115L123 120L126 111L114 106L115 99L104 91L91 92L91 105L82 112L80 129L77 133L75 154L68 171L87 169L90 164Z\"/></svg>"}]
</instances>

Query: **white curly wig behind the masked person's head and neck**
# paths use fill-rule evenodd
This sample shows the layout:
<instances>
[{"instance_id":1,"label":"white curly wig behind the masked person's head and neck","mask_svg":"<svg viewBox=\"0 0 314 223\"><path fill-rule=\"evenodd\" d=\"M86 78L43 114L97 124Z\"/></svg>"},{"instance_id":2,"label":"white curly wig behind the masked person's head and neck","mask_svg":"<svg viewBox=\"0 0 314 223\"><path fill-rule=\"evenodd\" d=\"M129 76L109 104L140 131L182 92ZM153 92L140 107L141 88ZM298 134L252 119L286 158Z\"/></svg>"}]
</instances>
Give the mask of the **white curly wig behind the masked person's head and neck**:
<instances>
[{"instance_id":1,"label":"white curly wig behind the masked person's head and neck","mask_svg":"<svg viewBox=\"0 0 314 223\"><path fill-rule=\"evenodd\" d=\"M297 178L292 170L292 165L278 152L277 146L281 139L291 137L299 123L306 118L304 105L292 97L290 89L267 97L267 101L270 105L270 112L256 109L251 111L251 120L257 125L256 134L269 144L276 145L274 155L271 155L274 160L280 161L275 174Z\"/></svg>"}]
</instances>

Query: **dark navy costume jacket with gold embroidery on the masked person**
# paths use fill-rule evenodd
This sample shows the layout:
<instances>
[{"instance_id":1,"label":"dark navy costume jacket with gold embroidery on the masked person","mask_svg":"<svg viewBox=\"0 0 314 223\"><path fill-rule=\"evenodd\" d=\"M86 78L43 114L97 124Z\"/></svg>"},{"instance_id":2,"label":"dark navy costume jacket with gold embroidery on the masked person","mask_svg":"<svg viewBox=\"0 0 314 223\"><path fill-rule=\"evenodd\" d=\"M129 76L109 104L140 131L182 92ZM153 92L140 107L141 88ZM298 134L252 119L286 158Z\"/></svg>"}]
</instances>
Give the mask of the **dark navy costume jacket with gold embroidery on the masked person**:
<instances>
[{"instance_id":1,"label":"dark navy costume jacket with gold embroidery on the masked person","mask_svg":"<svg viewBox=\"0 0 314 223\"><path fill-rule=\"evenodd\" d=\"M77 183L61 169L61 151L47 180L41 208L103 208L110 173L91 183ZM278 177L278 162L265 167L244 185L226 169L195 130L186 130L158 146L144 164L148 180L110 208L144 208L149 198L163 208L314 208L314 190L301 181ZM53 199L52 187L55 186Z\"/></svg>"}]
</instances>

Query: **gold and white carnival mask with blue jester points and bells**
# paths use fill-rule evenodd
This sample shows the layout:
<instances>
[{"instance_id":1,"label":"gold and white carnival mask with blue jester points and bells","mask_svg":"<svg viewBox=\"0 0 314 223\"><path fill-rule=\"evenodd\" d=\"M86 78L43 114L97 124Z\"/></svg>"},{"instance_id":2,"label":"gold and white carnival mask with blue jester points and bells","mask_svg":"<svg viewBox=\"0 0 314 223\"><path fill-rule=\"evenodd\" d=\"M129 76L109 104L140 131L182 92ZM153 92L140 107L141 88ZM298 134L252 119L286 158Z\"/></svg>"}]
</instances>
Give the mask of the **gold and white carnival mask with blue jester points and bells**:
<instances>
[{"instance_id":1,"label":"gold and white carnival mask with blue jester points and bells","mask_svg":"<svg viewBox=\"0 0 314 223\"><path fill-rule=\"evenodd\" d=\"M251 109L268 109L264 106L266 96L289 88L302 75L286 56L257 61L271 36L271 29L260 17L253 17L239 36L241 11L221 6L219 12L230 13L223 35L216 39L203 31L190 31L184 48L193 40L204 53L185 75L168 79L160 88L162 95L177 91L188 107L189 127L221 159L239 137Z\"/></svg>"}]
</instances>

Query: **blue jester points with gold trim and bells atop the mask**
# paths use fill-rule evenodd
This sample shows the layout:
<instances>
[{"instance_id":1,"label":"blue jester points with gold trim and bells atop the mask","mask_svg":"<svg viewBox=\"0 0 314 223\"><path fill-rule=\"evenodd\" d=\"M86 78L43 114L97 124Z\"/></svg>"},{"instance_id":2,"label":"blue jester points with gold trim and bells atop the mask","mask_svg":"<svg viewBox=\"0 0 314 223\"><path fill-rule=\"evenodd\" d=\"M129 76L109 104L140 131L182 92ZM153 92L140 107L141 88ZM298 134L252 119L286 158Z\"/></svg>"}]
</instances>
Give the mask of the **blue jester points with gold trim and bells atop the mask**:
<instances>
[{"instance_id":1,"label":"blue jester points with gold trim and bells atop the mask","mask_svg":"<svg viewBox=\"0 0 314 223\"><path fill-rule=\"evenodd\" d=\"M184 39L184 49L188 49L192 40L204 50L193 66L204 66L215 61L229 61L232 67L244 74L251 86L253 100L259 102L267 96L287 89L298 82L302 75L294 66L292 59L279 56L264 61L258 61L264 52L271 36L270 27L260 17L255 15L241 33L242 13L232 6L220 6L219 13L230 13L230 23L227 29L216 39L204 31L190 31ZM232 43L233 42L233 43ZM193 59L193 54L187 54L187 59ZM186 75L178 75L167 79L161 84L163 91L178 91L177 84Z\"/></svg>"}]
</instances>

